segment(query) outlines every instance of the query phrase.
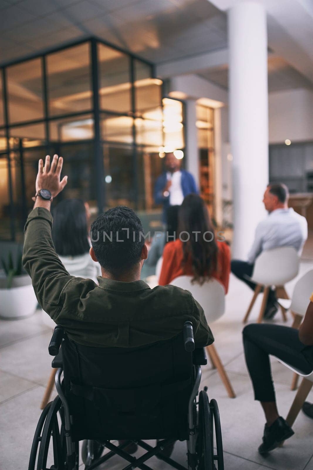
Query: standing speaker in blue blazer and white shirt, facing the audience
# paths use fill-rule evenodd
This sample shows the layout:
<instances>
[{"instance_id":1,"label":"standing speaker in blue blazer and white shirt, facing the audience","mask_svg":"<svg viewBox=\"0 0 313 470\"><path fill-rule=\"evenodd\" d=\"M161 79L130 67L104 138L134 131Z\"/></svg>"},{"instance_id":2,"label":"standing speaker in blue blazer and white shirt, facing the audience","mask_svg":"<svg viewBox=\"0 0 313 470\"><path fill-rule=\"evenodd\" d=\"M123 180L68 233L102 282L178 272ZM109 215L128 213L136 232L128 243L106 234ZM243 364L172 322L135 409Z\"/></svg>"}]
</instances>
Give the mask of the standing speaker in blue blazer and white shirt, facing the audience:
<instances>
[{"instance_id":1,"label":"standing speaker in blue blazer and white shirt, facing the audience","mask_svg":"<svg viewBox=\"0 0 313 470\"><path fill-rule=\"evenodd\" d=\"M181 160L178 160L173 152L165 157L166 172L163 172L155 182L154 202L163 204L163 222L166 222L166 211L169 206L182 205L183 199L188 194L198 194L194 177L191 173L180 168Z\"/></svg>"}]
</instances>

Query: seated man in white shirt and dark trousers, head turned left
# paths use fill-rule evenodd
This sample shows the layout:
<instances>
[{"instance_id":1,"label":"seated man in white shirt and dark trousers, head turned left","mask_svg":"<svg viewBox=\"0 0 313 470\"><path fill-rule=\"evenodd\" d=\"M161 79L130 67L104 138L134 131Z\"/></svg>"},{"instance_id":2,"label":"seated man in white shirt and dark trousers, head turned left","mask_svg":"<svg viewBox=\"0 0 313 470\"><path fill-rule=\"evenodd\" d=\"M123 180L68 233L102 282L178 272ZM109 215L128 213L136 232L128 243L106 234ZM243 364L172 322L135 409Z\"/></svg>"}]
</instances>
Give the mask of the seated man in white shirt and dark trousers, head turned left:
<instances>
[{"instance_id":1,"label":"seated man in white shirt and dark trousers, head turned left","mask_svg":"<svg viewBox=\"0 0 313 470\"><path fill-rule=\"evenodd\" d=\"M292 208L288 208L288 198L288 188L284 184L269 184L267 186L263 203L268 211L268 216L261 220L256 228L255 240L249 251L248 260L233 259L231 261L231 272L252 290L255 289L256 284L246 276L252 276L254 262L262 251L280 246L292 246L300 255L307 239L306 219ZM264 318L273 318L277 310L275 290L271 289L267 298Z\"/></svg>"}]
</instances>

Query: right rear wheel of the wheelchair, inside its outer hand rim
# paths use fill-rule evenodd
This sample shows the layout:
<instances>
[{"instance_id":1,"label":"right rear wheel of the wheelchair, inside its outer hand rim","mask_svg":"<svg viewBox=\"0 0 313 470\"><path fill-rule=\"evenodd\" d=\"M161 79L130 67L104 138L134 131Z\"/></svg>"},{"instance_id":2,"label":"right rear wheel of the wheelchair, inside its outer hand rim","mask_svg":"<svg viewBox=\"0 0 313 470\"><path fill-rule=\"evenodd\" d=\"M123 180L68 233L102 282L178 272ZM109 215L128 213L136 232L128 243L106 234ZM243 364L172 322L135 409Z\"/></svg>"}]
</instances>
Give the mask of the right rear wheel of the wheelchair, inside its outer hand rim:
<instances>
[{"instance_id":1,"label":"right rear wheel of the wheelchair, inside its outer hand rim","mask_svg":"<svg viewBox=\"0 0 313 470\"><path fill-rule=\"evenodd\" d=\"M214 470L211 409L207 393L204 390L199 393L196 452L198 454L198 470Z\"/></svg>"}]
</instances>

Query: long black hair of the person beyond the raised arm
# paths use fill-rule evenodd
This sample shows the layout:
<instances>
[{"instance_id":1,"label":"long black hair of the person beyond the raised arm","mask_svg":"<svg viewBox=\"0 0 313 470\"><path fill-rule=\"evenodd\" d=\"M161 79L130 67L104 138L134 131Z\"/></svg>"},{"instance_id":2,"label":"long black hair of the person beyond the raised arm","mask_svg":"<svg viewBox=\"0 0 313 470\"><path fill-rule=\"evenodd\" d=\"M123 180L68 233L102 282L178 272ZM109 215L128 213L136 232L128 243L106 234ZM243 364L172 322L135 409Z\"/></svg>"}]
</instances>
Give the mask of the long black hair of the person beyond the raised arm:
<instances>
[{"instance_id":1,"label":"long black hair of the person beyond the raised arm","mask_svg":"<svg viewBox=\"0 0 313 470\"><path fill-rule=\"evenodd\" d=\"M87 216L80 199L64 199L53 210L52 239L60 256L78 256L90 250Z\"/></svg>"}]
</instances>

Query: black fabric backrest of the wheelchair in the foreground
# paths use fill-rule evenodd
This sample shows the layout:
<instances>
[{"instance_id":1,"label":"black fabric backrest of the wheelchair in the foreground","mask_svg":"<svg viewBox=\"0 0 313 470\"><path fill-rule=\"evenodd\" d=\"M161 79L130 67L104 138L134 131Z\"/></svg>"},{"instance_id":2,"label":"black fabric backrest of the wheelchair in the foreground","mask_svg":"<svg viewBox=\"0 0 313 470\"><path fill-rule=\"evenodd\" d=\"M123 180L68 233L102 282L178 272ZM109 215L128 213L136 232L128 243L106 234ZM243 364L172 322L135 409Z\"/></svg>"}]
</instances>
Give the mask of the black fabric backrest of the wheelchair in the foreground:
<instances>
[{"instance_id":1,"label":"black fabric backrest of the wheelchair in the foreground","mask_svg":"<svg viewBox=\"0 0 313 470\"><path fill-rule=\"evenodd\" d=\"M138 348L65 336L62 356L77 439L186 439L193 369L183 334Z\"/></svg>"}]
</instances>

